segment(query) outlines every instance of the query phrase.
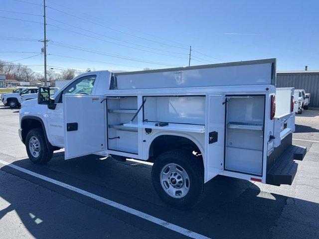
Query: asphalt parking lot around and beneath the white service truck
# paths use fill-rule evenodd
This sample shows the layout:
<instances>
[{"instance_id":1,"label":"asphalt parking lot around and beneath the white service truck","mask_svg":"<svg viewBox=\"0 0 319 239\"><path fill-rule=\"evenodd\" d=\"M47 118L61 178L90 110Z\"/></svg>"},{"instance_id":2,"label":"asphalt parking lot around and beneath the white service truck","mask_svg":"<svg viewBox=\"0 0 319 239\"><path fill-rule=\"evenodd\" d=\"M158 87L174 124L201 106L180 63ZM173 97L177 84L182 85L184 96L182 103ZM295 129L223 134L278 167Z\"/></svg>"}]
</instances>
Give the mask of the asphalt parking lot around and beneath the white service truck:
<instances>
[{"instance_id":1,"label":"asphalt parking lot around and beneath the white service truck","mask_svg":"<svg viewBox=\"0 0 319 239\"><path fill-rule=\"evenodd\" d=\"M71 185L201 236L319 238L319 110L296 117L293 143L307 146L292 186L218 176L191 211L169 208L156 195L151 165L86 157L29 163L18 138L18 109L0 103L0 238L186 238L101 201L6 164ZM1 163L2 161L2 163ZM5 162L5 163L3 163ZM178 230L177 230L178 231Z\"/></svg>"}]
</instances>

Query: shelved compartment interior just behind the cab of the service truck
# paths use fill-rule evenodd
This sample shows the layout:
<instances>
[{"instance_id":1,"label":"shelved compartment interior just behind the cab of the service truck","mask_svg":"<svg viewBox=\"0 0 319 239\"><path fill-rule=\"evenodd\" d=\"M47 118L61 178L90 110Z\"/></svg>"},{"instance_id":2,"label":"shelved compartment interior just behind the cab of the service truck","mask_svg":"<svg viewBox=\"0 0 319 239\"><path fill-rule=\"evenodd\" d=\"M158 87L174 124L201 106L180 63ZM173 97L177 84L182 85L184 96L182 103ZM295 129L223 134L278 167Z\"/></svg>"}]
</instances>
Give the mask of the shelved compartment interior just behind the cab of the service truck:
<instances>
[{"instance_id":1,"label":"shelved compartment interior just behind the cab of the service truck","mask_svg":"<svg viewBox=\"0 0 319 239\"><path fill-rule=\"evenodd\" d=\"M107 99L108 149L138 153L138 129L124 126L138 110L137 97ZM133 120L137 123L137 117Z\"/></svg>"}]
</instances>

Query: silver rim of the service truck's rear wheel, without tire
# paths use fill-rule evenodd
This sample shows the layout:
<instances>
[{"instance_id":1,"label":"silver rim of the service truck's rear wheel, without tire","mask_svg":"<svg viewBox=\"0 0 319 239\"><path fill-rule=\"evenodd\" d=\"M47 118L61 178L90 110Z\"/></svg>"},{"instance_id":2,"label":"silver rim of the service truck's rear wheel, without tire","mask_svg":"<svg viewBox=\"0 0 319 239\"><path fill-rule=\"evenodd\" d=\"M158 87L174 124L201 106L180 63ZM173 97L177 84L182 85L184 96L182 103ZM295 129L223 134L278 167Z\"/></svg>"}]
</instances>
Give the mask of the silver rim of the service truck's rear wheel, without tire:
<instances>
[{"instance_id":1,"label":"silver rim of the service truck's rear wheel, without tire","mask_svg":"<svg viewBox=\"0 0 319 239\"><path fill-rule=\"evenodd\" d=\"M160 184L164 191L173 198L182 198L189 191L187 172L178 164L166 164L160 171Z\"/></svg>"}]
</instances>

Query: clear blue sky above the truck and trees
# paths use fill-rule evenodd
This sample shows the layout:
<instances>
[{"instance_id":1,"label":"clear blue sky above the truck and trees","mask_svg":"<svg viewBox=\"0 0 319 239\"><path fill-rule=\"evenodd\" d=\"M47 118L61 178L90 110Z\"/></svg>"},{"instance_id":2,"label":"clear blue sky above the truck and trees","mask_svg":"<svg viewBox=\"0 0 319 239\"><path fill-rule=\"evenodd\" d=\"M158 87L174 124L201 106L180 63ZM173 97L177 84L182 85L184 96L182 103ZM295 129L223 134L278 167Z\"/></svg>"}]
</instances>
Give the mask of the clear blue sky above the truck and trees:
<instances>
[{"instance_id":1,"label":"clear blue sky above the truck and trees","mask_svg":"<svg viewBox=\"0 0 319 239\"><path fill-rule=\"evenodd\" d=\"M43 0L0 1L0 60L43 72ZM47 64L57 72L188 66L190 45L191 66L277 58L277 70L319 69L318 0L46 0L46 6Z\"/></svg>"}]
</instances>

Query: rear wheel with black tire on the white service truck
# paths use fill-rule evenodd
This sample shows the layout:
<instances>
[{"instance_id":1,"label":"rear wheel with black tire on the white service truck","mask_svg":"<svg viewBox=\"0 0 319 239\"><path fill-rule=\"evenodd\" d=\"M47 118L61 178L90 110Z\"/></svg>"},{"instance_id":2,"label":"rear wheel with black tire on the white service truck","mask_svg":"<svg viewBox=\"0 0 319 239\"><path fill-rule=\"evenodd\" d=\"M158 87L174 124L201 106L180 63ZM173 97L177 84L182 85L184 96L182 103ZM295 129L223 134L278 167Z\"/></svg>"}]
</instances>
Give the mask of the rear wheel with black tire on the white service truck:
<instances>
[{"instance_id":1,"label":"rear wheel with black tire on the white service truck","mask_svg":"<svg viewBox=\"0 0 319 239\"><path fill-rule=\"evenodd\" d=\"M168 171L167 167L169 168ZM181 175L183 172L186 172L188 179L185 174ZM177 175L174 175L175 173ZM162 180L162 175L167 180ZM182 176L182 178L178 176ZM182 183L178 180L181 180ZM201 200L206 186L204 184L204 172L201 161L193 154L183 150L170 150L160 154L152 168L152 183L155 191L166 204L184 210L192 208ZM177 186L179 183L182 186ZM183 188L187 192L183 193L181 190L179 191L181 188L178 187ZM172 191L175 190L174 196L173 193L168 192L167 188L170 188Z\"/></svg>"}]
</instances>

